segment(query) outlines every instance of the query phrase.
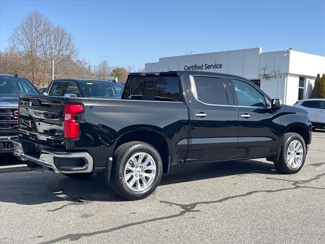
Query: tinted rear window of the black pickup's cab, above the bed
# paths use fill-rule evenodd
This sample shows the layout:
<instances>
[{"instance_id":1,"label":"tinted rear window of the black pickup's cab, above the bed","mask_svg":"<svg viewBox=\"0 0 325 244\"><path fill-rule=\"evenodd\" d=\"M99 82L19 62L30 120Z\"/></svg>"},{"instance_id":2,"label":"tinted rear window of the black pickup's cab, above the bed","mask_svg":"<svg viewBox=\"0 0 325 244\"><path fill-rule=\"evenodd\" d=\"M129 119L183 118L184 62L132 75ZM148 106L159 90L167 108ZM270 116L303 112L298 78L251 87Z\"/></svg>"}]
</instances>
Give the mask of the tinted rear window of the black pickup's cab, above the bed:
<instances>
[{"instance_id":1,"label":"tinted rear window of the black pickup's cab, above the bed","mask_svg":"<svg viewBox=\"0 0 325 244\"><path fill-rule=\"evenodd\" d=\"M178 76L131 77L124 88L124 99L181 102Z\"/></svg>"}]
</instances>

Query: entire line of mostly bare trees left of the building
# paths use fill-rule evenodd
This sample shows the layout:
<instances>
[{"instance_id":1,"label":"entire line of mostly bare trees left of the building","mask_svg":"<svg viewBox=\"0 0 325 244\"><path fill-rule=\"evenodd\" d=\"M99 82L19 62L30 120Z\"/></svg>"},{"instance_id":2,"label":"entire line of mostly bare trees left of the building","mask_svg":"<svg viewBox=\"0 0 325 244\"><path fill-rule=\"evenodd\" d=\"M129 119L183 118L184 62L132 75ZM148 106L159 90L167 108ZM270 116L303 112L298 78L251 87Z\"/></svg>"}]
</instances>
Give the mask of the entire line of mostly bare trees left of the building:
<instances>
[{"instance_id":1,"label":"entire line of mostly bare trees left of the building","mask_svg":"<svg viewBox=\"0 0 325 244\"><path fill-rule=\"evenodd\" d=\"M72 35L61 26L54 26L37 11L27 13L10 37L11 45L0 53L1 73L26 76L35 85L46 85L51 80L52 57L54 77L90 78L94 75L103 79L113 75L125 82L134 66L127 69L115 67L103 60L95 70L84 59L78 59L78 50Z\"/></svg>"}]
</instances>

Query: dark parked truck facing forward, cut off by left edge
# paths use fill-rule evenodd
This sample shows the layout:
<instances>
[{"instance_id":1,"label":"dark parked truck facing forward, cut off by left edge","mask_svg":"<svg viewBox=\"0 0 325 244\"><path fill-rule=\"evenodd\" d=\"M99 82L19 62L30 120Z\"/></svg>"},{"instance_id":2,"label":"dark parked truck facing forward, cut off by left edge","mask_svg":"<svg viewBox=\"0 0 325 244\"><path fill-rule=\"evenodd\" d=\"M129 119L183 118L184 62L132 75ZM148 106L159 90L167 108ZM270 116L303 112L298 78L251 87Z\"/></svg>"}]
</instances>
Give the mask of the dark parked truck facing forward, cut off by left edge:
<instances>
[{"instance_id":1,"label":"dark parked truck facing forward, cut off by left edge","mask_svg":"<svg viewBox=\"0 0 325 244\"><path fill-rule=\"evenodd\" d=\"M0 75L0 153L12 154L12 139L18 137L18 97L38 95L37 89L24 77Z\"/></svg>"}]
</instances>

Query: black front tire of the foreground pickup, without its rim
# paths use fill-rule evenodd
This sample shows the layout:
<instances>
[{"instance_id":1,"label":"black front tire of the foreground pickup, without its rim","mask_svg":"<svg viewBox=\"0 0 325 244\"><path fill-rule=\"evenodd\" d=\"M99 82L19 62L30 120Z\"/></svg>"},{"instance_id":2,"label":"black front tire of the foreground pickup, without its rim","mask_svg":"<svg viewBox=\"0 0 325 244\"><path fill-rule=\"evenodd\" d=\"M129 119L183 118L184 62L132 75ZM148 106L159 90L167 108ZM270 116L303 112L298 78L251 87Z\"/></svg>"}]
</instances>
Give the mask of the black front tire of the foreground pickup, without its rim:
<instances>
[{"instance_id":1,"label":"black front tire of the foreground pickup, without its rim","mask_svg":"<svg viewBox=\"0 0 325 244\"><path fill-rule=\"evenodd\" d=\"M294 140L298 140L302 147L303 147L303 159L302 159L302 163L299 167L297 168L292 168L288 166L288 162L287 162L287 150L288 147L290 145L290 143ZM301 135L297 134L297 133L286 133L284 135L283 141L282 141L282 145L281 145L281 151L280 151L280 156L278 161L274 162L274 166L275 168L285 174L295 174L297 172L299 172L302 167L304 166L305 160L306 160L306 154L307 154L307 150L306 150L306 143L304 141L304 139L302 138Z\"/></svg>"}]
</instances>

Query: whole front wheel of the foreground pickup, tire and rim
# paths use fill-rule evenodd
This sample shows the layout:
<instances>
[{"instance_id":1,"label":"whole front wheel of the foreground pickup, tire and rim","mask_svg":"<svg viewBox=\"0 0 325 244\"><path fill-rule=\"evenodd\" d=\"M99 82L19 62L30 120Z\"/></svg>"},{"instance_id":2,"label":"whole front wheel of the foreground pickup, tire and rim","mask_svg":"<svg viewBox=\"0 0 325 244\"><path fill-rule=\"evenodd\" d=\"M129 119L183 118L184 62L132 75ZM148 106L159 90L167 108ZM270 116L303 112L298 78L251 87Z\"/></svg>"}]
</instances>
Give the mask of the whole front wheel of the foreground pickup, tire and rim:
<instances>
[{"instance_id":1,"label":"whole front wheel of the foreground pickup, tire and rim","mask_svg":"<svg viewBox=\"0 0 325 244\"><path fill-rule=\"evenodd\" d=\"M297 133L285 134L278 161L275 168L286 174L295 174L304 166L306 159L306 144L301 135Z\"/></svg>"}]
</instances>

